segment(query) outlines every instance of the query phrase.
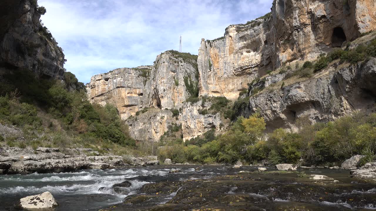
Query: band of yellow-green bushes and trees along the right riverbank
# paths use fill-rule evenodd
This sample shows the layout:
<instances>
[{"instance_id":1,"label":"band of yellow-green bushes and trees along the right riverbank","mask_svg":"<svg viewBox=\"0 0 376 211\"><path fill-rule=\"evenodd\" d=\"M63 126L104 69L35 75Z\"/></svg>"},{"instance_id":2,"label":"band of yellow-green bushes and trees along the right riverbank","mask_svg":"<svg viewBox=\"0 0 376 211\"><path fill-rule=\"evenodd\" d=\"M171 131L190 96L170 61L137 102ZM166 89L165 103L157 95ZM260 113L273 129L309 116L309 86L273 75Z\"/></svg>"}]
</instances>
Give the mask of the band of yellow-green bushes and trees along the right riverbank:
<instances>
[{"instance_id":1,"label":"band of yellow-green bushes and trees along the right riverbank","mask_svg":"<svg viewBox=\"0 0 376 211\"><path fill-rule=\"evenodd\" d=\"M356 154L367 155L362 163L374 158L376 150L376 113L366 116L354 113L334 122L311 125L308 118L297 119L297 133L279 128L264 136L265 122L258 114L240 117L226 133L215 137L208 131L203 139L193 139L185 145L176 142L159 150L161 160L171 158L183 163L234 163L238 160L270 164L298 163L333 166ZM267 137L265 139L265 137Z\"/></svg>"}]
</instances>

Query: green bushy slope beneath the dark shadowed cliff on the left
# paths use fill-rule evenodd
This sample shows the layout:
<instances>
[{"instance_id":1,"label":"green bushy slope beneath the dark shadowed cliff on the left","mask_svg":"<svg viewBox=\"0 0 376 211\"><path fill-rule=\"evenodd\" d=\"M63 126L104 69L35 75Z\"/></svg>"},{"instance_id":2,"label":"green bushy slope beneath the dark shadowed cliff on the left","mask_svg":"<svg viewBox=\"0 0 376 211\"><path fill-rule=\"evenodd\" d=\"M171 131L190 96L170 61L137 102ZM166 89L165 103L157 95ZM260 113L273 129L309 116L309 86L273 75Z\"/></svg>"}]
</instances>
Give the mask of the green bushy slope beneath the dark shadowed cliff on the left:
<instances>
[{"instance_id":1,"label":"green bushy slope beneath the dark shadowed cliff on the left","mask_svg":"<svg viewBox=\"0 0 376 211\"><path fill-rule=\"evenodd\" d=\"M82 86L67 89L67 82L78 81L73 74L65 75L65 83L39 79L32 72L17 69L3 78L0 123L21 128L24 137L6 137L8 145L96 150L100 146L102 152L112 148L118 154L136 149L135 140L129 137L127 125L113 105L91 104Z\"/></svg>"}]
</instances>

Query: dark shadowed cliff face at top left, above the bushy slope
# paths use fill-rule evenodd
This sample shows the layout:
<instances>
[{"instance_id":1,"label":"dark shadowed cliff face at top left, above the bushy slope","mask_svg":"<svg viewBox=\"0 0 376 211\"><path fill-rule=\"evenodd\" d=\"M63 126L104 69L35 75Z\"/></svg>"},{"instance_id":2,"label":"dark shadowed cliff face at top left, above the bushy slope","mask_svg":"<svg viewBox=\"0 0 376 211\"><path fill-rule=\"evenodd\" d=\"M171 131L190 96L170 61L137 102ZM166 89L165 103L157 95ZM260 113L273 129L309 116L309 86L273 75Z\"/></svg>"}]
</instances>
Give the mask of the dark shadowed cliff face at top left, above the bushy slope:
<instances>
[{"instance_id":1,"label":"dark shadowed cliff face at top left, above the bushy slope","mask_svg":"<svg viewBox=\"0 0 376 211\"><path fill-rule=\"evenodd\" d=\"M44 78L62 78L64 54L46 38L41 14L29 0L0 3L0 72L28 69Z\"/></svg>"}]
</instances>

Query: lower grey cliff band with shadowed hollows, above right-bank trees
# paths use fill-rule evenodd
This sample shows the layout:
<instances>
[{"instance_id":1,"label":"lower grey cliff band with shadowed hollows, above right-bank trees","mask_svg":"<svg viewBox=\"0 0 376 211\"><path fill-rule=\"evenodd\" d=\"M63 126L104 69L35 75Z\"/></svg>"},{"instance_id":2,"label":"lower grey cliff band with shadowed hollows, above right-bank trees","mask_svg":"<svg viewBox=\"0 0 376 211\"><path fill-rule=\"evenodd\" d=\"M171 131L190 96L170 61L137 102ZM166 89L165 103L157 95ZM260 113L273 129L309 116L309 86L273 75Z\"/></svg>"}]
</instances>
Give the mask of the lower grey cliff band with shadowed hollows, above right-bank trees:
<instances>
[{"instance_id":1,"label":"lower grey cliff band with shadowed hollows, above right-bank trees","mask_svg":"<svg viewBox=\"0 0 376 211\"><path fill-rule=\"evenodd\" d=\"M329 68L313 78L291 85L266 89L249 98L241 115L259 112L268 124L268 130L296 128L298 118L311 122L331 121L355 110L373 111L376 99L373 83L376 77L376 59L365 65Z\"/></svg>"}]
</instances>

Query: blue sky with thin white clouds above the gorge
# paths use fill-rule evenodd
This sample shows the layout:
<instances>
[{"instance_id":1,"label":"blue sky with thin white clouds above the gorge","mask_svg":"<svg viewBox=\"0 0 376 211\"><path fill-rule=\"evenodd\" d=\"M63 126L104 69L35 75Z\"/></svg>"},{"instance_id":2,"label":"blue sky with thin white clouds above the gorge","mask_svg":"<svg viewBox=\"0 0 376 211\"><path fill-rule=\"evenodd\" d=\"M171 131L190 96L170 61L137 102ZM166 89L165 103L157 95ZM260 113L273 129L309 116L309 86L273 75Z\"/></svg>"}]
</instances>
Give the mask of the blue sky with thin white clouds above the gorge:
<instances>
[{"instance_id":1,"label":"blue sky with thin white clouds above the gorge","mask_svg":"<svg viewBox=\"0 0 376 211\"><path fill-rule=\"evenodd\" d=\"M273 0L38 0L41 20L79 81L116 68L153 65L158 54L198 54L202 38L270 12Z\"/></svg>"}]
</instances>

